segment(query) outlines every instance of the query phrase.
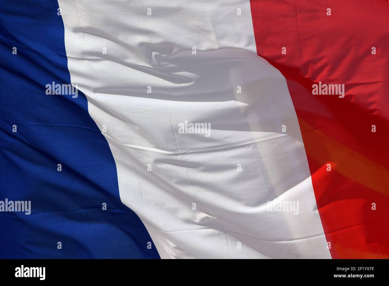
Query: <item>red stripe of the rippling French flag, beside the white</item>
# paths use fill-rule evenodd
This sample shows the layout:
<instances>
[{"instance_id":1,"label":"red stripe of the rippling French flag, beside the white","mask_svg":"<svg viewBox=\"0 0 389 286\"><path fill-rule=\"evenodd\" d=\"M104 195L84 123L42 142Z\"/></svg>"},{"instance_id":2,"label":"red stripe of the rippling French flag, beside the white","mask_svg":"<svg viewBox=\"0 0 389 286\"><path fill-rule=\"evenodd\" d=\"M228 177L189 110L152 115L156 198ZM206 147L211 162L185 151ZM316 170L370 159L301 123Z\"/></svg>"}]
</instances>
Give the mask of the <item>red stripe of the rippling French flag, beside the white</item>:
<instances>
[{"instance_id":1,"label":"red stripe of the rippling French flag, beside the white","mask_svg":"<svg viewBox=\"0 0 389 286\"><path fill-rule=\"evenodd\" d=\"M251 12L258 55L287 80L332 257L389 258L389 4L251 0ZM345 97L312 95L319 81Z\"/></svg>"}]
</instances>

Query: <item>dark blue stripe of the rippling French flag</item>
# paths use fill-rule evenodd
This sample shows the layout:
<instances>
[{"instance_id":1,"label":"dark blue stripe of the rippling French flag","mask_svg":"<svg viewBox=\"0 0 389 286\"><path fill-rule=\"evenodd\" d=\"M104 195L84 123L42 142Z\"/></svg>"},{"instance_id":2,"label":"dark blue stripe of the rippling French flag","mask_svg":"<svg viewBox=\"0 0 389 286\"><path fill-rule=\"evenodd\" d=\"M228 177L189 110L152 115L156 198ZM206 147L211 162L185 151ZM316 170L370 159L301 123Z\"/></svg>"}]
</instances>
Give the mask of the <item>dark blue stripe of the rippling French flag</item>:
<instances>
[{"instance_id":1,"label":"dark blue stripe of the rippling French flag","mask_svg":"<svg viewBox=\"0 0 389 286\"><path fill-rule=\"evenodd\" d=\"M0 258L159 258L120 201L114 158L86 97L45 93L46 84L70 83L58 3L0 7L0 200L32 208L0 212Z\"/></svg>"}]
</instances>

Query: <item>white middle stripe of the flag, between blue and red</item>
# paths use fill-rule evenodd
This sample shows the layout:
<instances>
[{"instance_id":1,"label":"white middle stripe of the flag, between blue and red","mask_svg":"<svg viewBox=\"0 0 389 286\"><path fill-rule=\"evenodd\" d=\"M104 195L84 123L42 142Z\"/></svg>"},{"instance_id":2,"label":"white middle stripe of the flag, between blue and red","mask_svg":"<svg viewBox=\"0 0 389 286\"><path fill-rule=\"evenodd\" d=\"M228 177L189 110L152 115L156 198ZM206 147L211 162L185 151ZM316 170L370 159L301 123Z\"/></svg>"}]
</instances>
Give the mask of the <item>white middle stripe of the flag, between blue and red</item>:
<instances>
[{"instance_id":1,"label":"white middle stripe of the flag, between blue and red","mask_svg":"<svg viewBox=\"0 0 389 286\"><path fill-rule=\"evenodd\" d=\"M107 126L121 200L162 258L331 257L286 81L256 55L248 0L58 2L72 83ZM185 121L210 136L180 134ZM273 198L299 213L267 211Z\"/></svg>"}]
</instances>

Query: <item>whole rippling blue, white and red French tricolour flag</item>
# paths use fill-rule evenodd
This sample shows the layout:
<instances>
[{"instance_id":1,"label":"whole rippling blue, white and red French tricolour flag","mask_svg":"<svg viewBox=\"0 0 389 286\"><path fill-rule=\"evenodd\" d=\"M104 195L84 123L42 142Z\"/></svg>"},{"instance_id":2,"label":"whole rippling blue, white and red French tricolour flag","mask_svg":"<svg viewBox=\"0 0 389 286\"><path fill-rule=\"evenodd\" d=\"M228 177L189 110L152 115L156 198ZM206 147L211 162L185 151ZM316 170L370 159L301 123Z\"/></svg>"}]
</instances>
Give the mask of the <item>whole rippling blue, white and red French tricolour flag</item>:
<instances>
[{"instance_id":1,"label":"whole rippling blue, white and red French tricolour flag","mask_svg":"<svg viewBox=\"0 0 389 286\"><path fill-rule=\"evenodd\" d=\"M385 0L0 7L0 258L389 258Z\"/></svg>"}]
</instances>

